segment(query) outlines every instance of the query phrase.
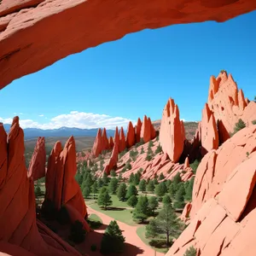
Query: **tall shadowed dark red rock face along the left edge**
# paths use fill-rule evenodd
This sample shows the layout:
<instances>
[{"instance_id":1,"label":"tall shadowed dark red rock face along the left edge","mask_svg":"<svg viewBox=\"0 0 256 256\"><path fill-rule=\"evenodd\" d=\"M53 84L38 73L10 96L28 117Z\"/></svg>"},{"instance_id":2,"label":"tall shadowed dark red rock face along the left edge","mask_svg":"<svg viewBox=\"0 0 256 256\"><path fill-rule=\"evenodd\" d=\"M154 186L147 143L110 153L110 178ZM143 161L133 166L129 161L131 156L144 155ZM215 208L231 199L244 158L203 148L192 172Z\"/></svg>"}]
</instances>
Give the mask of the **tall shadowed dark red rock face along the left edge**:
<instances>
[{"instance_id":1,"label":"tall shadowed dark red rock face along the left edge","mask_svg":"<svg viewBox=\"0 0 256 256\"><path fill-rule=\"evenodd\" d=\"M1 254L79 256L73 247L36 220L34 184L32 178L27 177L24 151L24 133L19 118L14 118L8 137L1 124Z\"/></svg>"}]
</instances>

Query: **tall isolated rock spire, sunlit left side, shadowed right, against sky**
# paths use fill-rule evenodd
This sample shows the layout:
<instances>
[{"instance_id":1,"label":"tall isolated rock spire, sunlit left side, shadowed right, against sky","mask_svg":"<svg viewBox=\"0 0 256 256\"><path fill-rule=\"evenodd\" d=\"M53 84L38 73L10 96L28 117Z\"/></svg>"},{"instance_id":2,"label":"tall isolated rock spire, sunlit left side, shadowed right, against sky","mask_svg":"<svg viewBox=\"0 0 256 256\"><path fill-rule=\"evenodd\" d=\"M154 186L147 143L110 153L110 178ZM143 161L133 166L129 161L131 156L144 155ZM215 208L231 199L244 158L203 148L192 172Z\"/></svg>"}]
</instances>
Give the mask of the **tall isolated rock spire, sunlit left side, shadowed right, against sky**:
<instances>
[{"instance_id":1,"label":"tall isolated rock spire, sunlit left side, shadowed right, against sky","mask_svg":"<svg viewBox=\"0 0 256 256\"><path fill-rule=\"evenodd\" d=\"M185 141L183 122L179 119L179 111L170 98L164 108L160 126L160 144L163 151L173 162L177 162L183 153Z\"/></svg>"}]
</instances>

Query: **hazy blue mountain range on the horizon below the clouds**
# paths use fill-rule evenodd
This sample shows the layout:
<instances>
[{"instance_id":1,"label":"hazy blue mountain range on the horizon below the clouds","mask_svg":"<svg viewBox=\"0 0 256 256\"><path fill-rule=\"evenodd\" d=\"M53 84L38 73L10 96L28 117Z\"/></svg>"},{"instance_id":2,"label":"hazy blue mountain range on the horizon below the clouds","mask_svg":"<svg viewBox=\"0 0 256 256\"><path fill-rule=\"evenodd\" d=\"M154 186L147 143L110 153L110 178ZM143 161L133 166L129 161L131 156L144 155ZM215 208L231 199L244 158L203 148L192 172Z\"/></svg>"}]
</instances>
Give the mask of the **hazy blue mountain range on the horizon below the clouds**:
<instances>
[{"instance_id":1,"label":"hazy blue mountain range on the horizon below the clouds","mask_svg":"<svg viewBox=\"0 0 256 256\"><path fill-rule=\"evenodd\" d=\"M9 124L4 124L5 131L9 132ZM96 137L98 129L79 129L79 128L68 128L61 127L59 129L43 130L37 128L26 128L23 129L25 138L33 137ZM107 130L107 135L114 136L114 130Z\"/></svg>"}]
</instances>

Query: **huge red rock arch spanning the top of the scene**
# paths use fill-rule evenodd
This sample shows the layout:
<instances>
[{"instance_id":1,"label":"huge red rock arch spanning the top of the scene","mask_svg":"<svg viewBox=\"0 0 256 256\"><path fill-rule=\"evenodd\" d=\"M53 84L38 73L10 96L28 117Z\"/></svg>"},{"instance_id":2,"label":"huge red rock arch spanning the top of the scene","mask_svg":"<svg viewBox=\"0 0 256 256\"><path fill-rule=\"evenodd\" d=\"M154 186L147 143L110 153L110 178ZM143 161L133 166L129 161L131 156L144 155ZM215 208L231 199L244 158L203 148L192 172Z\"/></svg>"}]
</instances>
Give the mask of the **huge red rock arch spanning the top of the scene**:
<instances>
[{"instance_id":1,"label":"huge red rock arch spanning the top of the scene","mask_svg":"<svg viewBox=\"0 0 256 256\"><path fill-rule=\"evenodd\" d=\"M129 11L124 8L125 4L125 0L118 3L3 0L0 4L0 89L67 55L123 38L127 33L177 23L220 22L256 9L254 0L192 0L185 7L181 1L152 0L149 4L142 0L133 1ZM98 19L102 14L103 24ZM120 19L125 21L120 23ZM81 24L93 26L81 27Z\"/></svg>"}]
</instances>

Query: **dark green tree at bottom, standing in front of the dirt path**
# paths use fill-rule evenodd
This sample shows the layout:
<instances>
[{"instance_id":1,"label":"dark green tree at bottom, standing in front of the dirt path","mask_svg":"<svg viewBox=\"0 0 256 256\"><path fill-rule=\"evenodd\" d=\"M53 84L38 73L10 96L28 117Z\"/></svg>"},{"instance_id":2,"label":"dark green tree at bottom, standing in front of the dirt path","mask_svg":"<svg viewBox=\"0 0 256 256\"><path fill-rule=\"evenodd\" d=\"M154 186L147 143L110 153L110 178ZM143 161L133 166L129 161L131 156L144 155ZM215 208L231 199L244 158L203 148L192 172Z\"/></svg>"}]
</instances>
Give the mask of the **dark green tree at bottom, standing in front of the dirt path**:
<instances>
[{"instance_id":1,"label":"dark green tree at bottom, standing in front of the dirt path","mask_svg":"<svg viewBox=\"0 0 256 256\"><path fill-rule=\"evenodd\" d=\"M122 253L125 248L125 237L119 225L112 220L102 237L101 253Z\"/></svg>"}]
</instances>

